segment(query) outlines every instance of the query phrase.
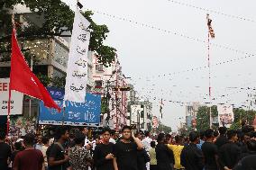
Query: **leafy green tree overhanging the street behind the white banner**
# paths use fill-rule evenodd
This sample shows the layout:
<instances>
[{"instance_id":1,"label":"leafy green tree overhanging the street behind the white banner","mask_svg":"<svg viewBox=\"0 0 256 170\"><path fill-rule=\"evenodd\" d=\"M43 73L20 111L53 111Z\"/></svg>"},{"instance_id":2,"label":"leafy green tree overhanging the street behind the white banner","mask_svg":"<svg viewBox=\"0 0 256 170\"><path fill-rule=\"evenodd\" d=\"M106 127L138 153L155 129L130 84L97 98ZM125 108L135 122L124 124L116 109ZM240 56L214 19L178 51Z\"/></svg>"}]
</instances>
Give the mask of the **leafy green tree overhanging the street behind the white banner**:
<instances>
[{"instance_id":1,"label":"leafy green tree overhanging the street behind the white banner","mask_svg":"<svg viewBox=\"0 0 256 170\"><path fill-rule=\"evenodd\" d=\"M70 36L67 32L72 31L74 13L61 0L3 0L0 3L0 36L2 36L0 37L2 42L0 51L1 55L5 55L5 60L10 56L11 51L12 22L8 9L14 8L15 4L25 4L42 21L41 25L28 22L28 25L17 27L17 37L20 40L40 40L54 36ZM116 49L104 45L104 40L109 30L106 25L98 25L93 22L91 19L92 12L86 11L83 15L91 23L89 27L91 31L89 49L95 51L98 61L108 67L114 61L116 52ZM16 14L15 21L17 21L17 18L18 14ZM19 25L19 23L17 24ZM10 58L8 59L10 60Z\"/></svg>"}]
</instances>

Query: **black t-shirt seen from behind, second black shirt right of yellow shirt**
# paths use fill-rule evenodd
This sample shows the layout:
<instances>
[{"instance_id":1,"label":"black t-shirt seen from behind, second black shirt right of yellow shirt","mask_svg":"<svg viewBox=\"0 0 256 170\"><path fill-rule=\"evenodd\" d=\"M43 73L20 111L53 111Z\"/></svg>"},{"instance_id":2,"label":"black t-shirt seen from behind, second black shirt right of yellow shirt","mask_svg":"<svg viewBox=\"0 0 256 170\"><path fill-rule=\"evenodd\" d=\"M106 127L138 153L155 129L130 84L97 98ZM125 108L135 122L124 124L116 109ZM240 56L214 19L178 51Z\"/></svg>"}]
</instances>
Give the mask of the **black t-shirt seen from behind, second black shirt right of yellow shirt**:
<instances>
[{"instance_id":1,"label":"black t-shirt seen from behind, second black shirt right of yellow shirt","mask_svg":"<svg viewBox=\"0 0 256 170\"><path fill-rule=\"evenodd\" d=\"M205 142L202 145L202 151L205 156L205 169L206 170L215 170L217 169L217 164L215 156L218 154L218 148L215 144L210 142Z\"/></svg>"}]
</instances>

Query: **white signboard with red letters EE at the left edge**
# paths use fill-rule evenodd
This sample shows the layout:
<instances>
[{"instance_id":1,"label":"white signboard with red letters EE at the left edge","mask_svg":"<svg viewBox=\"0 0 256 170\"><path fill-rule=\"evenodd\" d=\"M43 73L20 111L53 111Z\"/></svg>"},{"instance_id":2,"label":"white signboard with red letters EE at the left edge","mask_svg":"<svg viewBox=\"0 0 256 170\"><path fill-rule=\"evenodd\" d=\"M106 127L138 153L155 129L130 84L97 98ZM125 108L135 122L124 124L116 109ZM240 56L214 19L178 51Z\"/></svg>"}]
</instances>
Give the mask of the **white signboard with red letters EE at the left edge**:
<instances>
[{"instance_id":1,"label":"white signboard with red letters EE at the left edge","mask_svg":"<svg viewBox=\"0 0 256 170\"><path fill-rule=\"evenodd\" d=\"M8 100L9 100L9 83L10 78L0 78L0 115L8 114ZM23 94L12 91L11 98L11 115L23 113Z\"/></svg>"}]
</instances>

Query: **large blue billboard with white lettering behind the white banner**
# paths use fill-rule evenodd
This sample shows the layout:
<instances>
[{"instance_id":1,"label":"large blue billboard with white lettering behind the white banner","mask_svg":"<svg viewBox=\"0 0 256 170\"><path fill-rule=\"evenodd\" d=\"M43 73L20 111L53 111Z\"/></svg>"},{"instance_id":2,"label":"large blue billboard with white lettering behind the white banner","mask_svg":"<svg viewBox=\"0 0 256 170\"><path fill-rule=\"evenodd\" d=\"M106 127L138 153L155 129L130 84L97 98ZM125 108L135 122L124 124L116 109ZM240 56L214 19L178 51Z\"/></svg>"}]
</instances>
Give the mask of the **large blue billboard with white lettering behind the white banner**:
<instances>
[{"instance_id":1,"label":"large blue billboard with white lettering behind the white banner","mask_svg":"<svg viewBox=\"0 0 256 170\"><path fill-rule=\"evenodd\" d=\"M60 107L63 105L63 95L59 90L49 89L50 94ZM100 123L101 95L86 95L86 103L66 102L65 112L57 112L54 109L46 108L40 103L39 124L53 124L71 126L97 126Z\"/></svg>"}]
</instances>

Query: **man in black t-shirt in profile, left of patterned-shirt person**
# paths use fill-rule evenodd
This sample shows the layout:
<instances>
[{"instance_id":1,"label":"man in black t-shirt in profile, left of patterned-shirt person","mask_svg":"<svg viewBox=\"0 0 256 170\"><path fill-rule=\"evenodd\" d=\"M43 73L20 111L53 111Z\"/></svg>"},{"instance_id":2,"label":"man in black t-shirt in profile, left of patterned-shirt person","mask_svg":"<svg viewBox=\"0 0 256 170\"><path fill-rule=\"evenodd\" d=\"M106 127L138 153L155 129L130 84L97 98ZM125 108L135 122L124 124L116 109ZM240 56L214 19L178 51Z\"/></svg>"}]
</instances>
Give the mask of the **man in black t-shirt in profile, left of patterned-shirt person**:
<instances>
[{"instance_id":1,"label":"man in black t-shirt in profile, left of patterned-shirt person","mask_svg":"<svg viewBox=\"0 0 256 170\"><path fill-rule=\"evenodd\" d=\"M59 127L55 131L55 140L46 152L49 170L63 170L69 167L69 157L65 153L63 144L69 139L69 132L66 127Z\"/></svg>"}]
</instances>

